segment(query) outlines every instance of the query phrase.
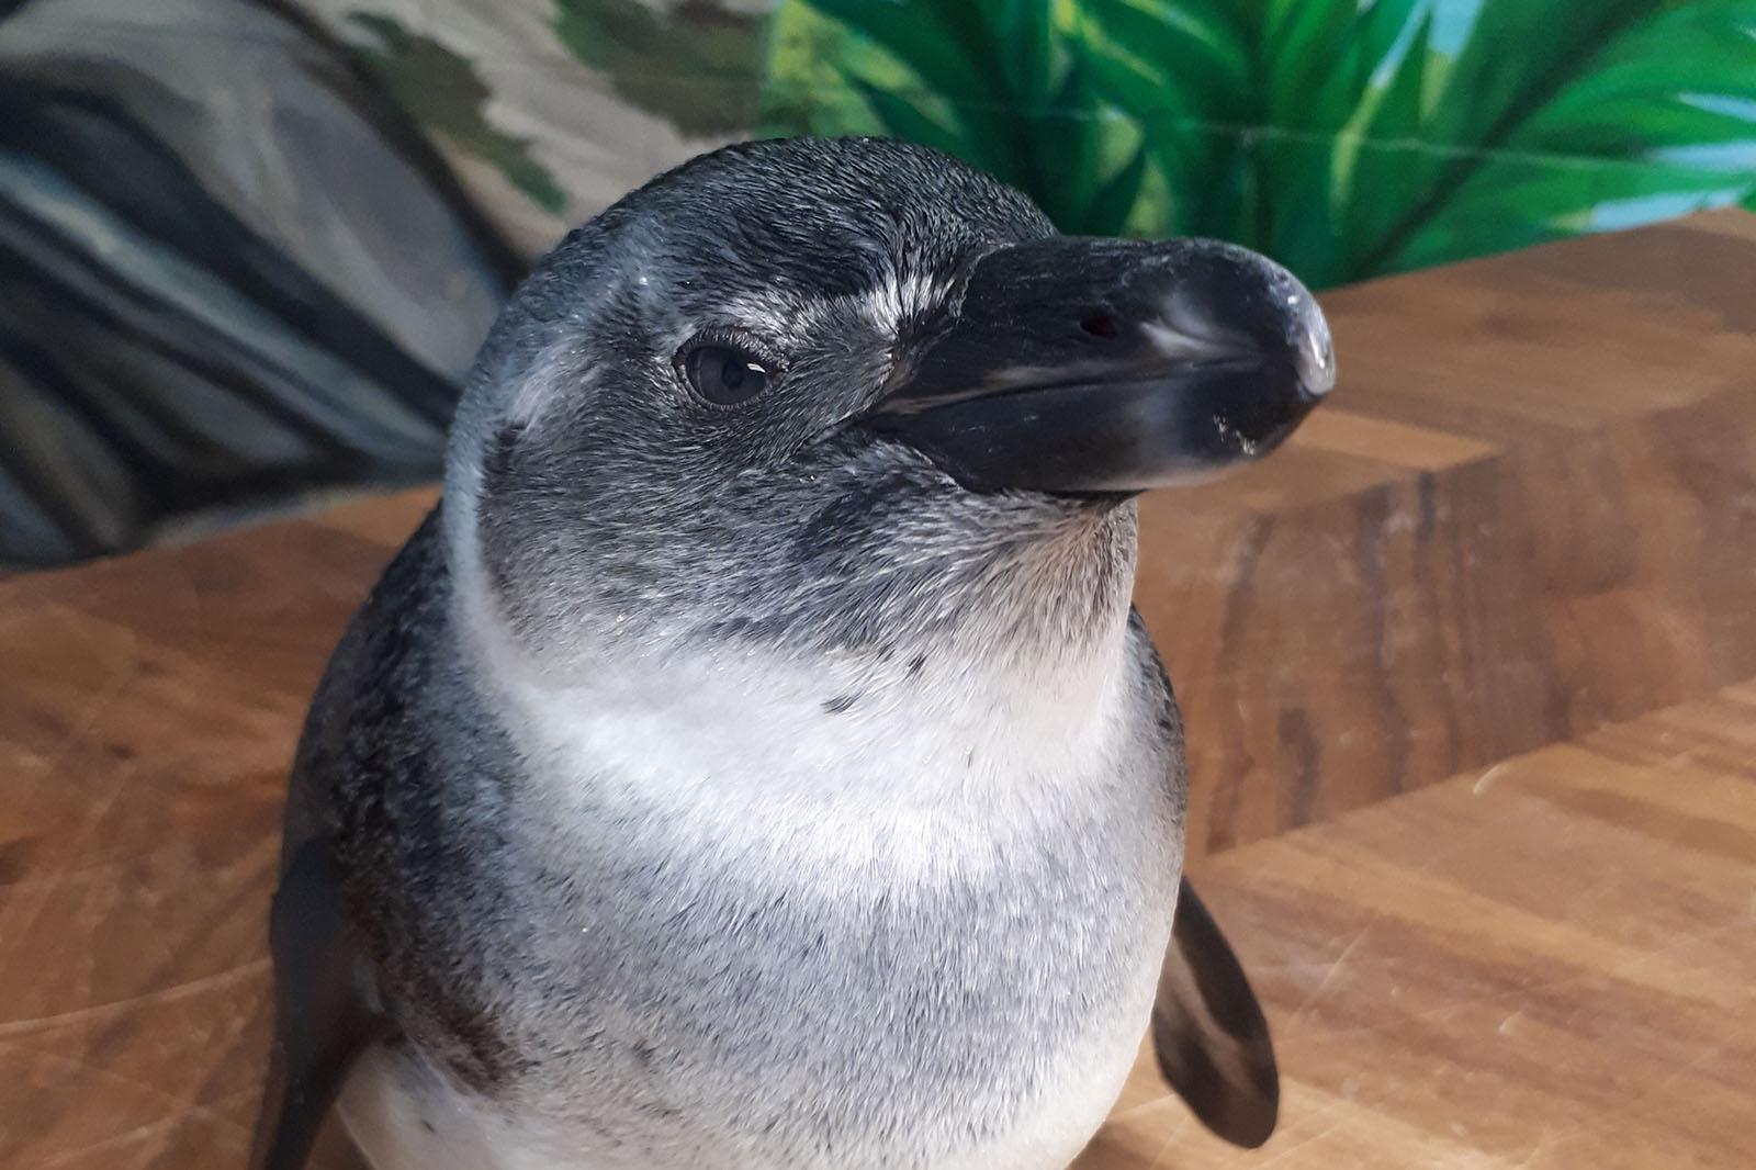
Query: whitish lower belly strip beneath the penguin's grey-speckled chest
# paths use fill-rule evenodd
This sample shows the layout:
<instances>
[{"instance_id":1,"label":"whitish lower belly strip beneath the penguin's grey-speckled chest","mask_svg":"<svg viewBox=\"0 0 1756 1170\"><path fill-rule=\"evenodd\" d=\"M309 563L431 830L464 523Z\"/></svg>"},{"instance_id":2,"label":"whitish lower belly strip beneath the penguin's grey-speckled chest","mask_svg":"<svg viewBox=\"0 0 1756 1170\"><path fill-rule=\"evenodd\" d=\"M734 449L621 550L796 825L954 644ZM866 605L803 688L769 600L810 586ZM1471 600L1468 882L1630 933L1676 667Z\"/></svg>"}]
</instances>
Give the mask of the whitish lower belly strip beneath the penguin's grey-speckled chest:
<instances>
[{"instance_id":1,"label":"whitish lower belly strip beneath the penguin's grey-speckled chest","mask_svg":"<svg viewBox=\"0 0 1756 1170\"><path fill-rule=\"evenodd\" d=\"M1145 1012L1092 1014L1082 1044L1020 1051L1027 1073L989 1070L931 1103L897 1093L915 1072L874 1066L860 1084L811 1086L832 1093L774 1070L723 1086L697 1112L630 1107L616 1093L555 1112L465 1089L413 1049L378 1047L339 1112L374 1170L1062 1170L1120 1094ZM825 1096L853 1107L825 1110Z\"/></svg>"}]
</instances>

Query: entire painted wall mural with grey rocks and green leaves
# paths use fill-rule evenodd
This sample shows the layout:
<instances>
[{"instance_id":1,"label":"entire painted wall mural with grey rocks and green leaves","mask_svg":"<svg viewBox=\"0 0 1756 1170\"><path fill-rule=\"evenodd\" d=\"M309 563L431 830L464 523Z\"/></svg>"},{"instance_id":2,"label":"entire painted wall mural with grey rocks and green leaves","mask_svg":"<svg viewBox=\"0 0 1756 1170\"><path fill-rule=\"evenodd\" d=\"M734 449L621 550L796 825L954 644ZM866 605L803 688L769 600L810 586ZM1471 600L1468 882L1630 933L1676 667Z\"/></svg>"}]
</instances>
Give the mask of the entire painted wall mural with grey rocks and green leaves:
<instances>
[{"instance_id":1,"label":"entire painted wall mural with grey rocks and green leaves","mask_svg":"<svg viewBox=\"0 0 1756 1170\"><path fill-rule=\"evenodd\" d=\"M432 478L529 262L759 134L1333 286L1756 209L1756 0L0 0L0 571Z\"/></svg>"}]
</instances>

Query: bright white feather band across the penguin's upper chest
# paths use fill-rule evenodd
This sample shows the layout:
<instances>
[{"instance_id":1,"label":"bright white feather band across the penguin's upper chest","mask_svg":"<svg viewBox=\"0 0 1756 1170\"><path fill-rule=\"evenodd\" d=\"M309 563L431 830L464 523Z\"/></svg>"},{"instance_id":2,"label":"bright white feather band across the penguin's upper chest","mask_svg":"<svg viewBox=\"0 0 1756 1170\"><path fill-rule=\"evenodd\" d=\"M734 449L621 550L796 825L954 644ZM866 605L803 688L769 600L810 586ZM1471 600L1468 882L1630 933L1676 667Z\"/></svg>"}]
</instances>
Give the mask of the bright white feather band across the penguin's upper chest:
<instances>
[{"instance_id":1,"label":"bright white feather band across the penguin's upper chest","mask_svg":"<svg viewBox=\"0 0 1756 1170\"><path fill-rule=\"evenodd\" d=\"M746 841L855 868L955 861L915 856L934 826L975 820L961 845L1003 843L1103 799L1154 747L1122 627L1026 662L957 645L876 664L722 652L611 661L555 685L509 654L492 661L500 717L558 822L590 808L664 815L680 836L738 824Z\"/></svg>"}]
</instances>

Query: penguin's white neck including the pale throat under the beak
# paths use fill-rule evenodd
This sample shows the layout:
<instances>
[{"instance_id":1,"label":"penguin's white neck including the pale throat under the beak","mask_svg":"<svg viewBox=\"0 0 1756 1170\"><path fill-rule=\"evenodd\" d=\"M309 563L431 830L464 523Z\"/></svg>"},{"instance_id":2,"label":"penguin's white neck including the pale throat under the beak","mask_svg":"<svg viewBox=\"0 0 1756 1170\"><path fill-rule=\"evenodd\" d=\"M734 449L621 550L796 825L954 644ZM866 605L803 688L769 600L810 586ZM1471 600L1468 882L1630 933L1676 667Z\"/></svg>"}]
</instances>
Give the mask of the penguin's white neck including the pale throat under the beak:
<instances>
[{"instance_id":1,"label":"penguin's white neck including the pale throat under the beak","mask_svg":"<svg viewBox=\"0 0 1756 1170\"><path fill-rule=\"evenodd\" d=\"M955 625L882 652L594 638L553 669L467 583L457 617L478 687L562 803L990 806L1101 775L1129 734L1133 534L1133 509L1069 524L997 564Z\"/></svg>"}]
</instances>

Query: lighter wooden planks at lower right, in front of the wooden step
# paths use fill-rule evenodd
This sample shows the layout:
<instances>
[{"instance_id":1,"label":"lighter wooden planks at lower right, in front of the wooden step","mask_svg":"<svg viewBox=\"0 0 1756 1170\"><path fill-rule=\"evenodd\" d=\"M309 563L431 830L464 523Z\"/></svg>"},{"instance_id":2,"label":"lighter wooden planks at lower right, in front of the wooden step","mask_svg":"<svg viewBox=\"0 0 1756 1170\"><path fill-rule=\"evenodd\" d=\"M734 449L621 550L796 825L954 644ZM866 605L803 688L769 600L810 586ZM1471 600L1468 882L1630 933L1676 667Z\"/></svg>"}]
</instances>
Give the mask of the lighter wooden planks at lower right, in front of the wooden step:
<instances>
[{"instance_id":1,"label":"lighter wooden planks at lower right, in front of the wooden step","mask_svg":"<svg viewBox=\"0 0 1756 1170\"><path fill-rule=\"evenodd\" d=\"M1143 1058L1080 1170L1756 1166L1756 683L1213 857L1278 1133Z\"/></svg>"}]
</instances>

